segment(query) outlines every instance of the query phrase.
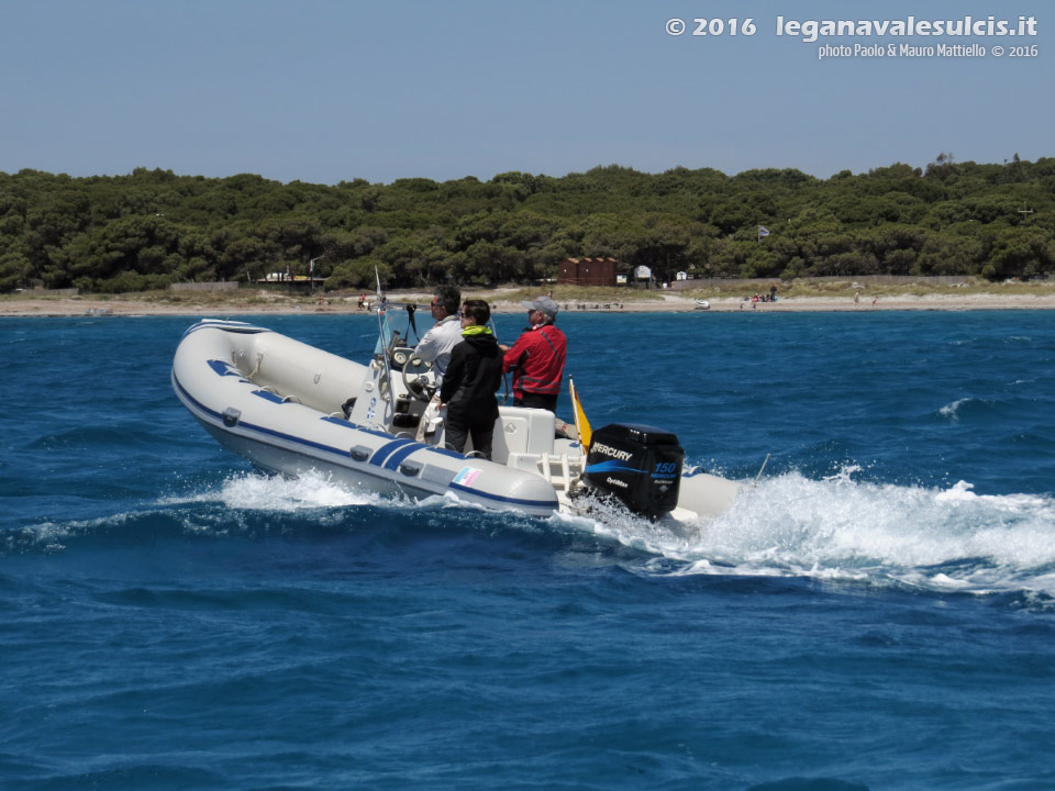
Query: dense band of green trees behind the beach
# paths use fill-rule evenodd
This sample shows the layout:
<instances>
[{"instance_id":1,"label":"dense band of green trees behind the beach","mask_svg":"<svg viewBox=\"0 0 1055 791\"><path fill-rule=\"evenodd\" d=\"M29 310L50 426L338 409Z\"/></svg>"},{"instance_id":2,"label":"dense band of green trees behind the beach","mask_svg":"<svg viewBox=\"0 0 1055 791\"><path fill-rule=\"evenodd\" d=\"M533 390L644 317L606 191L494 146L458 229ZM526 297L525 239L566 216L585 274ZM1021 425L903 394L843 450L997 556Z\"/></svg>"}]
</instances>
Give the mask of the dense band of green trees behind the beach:
<instances>
[{"instance_id":1,"label":"dense band of green trees behind the beach","mask_svg":"<svg viewBox=\"0 0 1055 791\"><path fill-rule=\"evenodd\" d=\"M759 241L758 226L769 230ZM612 256L659 279L867 274L1032 277L1055 269L1055 159L903 164L822 180L615 165L562 178L424 178L335 187L137 168L70 178L0 172L0 291L87 291L271 271L329 286L553 277Z\"/></svg>"}]
</instances>

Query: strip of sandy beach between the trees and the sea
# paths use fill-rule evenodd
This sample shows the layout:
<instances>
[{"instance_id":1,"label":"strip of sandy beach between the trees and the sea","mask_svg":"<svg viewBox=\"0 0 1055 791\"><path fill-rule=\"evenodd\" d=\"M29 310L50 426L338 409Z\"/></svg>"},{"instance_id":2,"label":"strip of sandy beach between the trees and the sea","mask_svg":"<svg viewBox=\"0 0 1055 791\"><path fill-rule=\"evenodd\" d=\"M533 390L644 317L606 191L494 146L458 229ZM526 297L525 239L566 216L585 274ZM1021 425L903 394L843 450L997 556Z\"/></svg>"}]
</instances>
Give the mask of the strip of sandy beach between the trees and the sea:
<instances>
[{"instance_id":1,"label":"strip of sandy beach between the trees and the sea","mask_svg":"<svg viewBox=\"0 0 1055 791\"><path fill-rule=\"evenodd\" d=\"M465 292L471 296L471 291ZM490 292L487 292L490 294ZM391 294L396 302L429 303L426 292ZM520 302L492 298L491 310L499 314L522 313ZM662 299L617 302L586 300L556 300L560 312L574 313L867 313L876 311L976 311L976 310L1055 310L1055 294L995 294L975 293L965 296L929 294L914 297L899 294L880 297L876 304L863 298L855 304L846 297L790 297L777 302L744 302L737 298L710 299L710 308L698 310L692 299L675 294L662 294ZM92 298L92 297L38 297L0 300L0 317L73 317L73 316L132 316L132 315L308 315L308 314L366 314L357 307L357 298L332 297L322 302L295 301L284 297L259 297L202 300L173 304L152 299Z\"/></svg>"}]
</instances>

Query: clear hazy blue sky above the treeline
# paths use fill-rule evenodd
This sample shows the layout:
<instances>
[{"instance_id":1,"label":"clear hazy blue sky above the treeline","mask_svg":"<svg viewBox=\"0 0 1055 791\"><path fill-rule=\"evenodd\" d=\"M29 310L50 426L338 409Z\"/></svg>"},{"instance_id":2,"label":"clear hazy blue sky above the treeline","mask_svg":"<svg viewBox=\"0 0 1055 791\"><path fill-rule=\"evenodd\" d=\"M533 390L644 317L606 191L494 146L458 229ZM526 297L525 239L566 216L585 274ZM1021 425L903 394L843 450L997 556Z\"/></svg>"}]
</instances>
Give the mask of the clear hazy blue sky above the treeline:
<instances>
[{"instance_id":1,"label":"clear hazy blue sky above the treeline","mask_svg":"<svg viewBox=\"0 0 1055 791\"><path fill-rule=\"evenodd\" d=\"M967 14L1032 15L1037 35L776 34L778 16ZM756 32L692 36L697 16ZM1037 56L818 59L877 43ZM0 0L0 170L387 183L1036 159L1055 156L1053 58L1046 0Z\"/></svg>"}]
</instances>

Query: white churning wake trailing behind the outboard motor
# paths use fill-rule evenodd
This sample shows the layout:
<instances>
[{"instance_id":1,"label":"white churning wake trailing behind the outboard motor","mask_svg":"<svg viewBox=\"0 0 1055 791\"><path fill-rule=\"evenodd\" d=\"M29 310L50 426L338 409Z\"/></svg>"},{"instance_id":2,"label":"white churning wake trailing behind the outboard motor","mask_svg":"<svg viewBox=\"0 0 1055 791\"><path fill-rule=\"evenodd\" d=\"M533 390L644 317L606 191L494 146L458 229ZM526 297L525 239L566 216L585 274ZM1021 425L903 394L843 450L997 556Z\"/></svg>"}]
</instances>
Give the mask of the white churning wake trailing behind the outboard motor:
<instances>
[{"instance_id":1,"label":"white churning wake trailing behind the outboard motor","mask_svg":"<svg viewBox=\"0 0 1055 791\"><path fill-rule=\"evenodd\" d=\"M745 489L725 514L689 528L624 514L562 517L678 561L679 575L806 576L971 592L1055 595L1055 500L825 480L798 472ZM660 565L663 573L669 566Z\"/></svg>"}]
</instances>

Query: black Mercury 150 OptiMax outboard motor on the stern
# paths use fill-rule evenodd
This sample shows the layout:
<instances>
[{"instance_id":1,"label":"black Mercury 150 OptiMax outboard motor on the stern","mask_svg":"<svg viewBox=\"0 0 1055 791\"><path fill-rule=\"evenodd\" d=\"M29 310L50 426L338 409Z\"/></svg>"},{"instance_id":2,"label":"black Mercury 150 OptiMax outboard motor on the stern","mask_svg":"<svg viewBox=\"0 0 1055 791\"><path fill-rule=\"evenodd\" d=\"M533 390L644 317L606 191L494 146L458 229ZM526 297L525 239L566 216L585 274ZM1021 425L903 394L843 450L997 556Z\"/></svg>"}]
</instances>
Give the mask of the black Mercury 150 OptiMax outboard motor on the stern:
<instances>
[{"instance_id":1,"label":"black Mercury 150 OptiMax outboard motor on the stern","mask_svg":"<svg viewBox=\"0 0 1055 791\"><path fill-rule=\"evenodd\" d=\"M593 432L582 478L654 520L677 506L684 460L685 449L670 432L612 423Z\"/></svg>"}]
</instances>

